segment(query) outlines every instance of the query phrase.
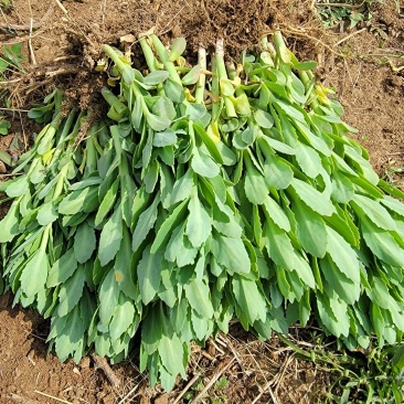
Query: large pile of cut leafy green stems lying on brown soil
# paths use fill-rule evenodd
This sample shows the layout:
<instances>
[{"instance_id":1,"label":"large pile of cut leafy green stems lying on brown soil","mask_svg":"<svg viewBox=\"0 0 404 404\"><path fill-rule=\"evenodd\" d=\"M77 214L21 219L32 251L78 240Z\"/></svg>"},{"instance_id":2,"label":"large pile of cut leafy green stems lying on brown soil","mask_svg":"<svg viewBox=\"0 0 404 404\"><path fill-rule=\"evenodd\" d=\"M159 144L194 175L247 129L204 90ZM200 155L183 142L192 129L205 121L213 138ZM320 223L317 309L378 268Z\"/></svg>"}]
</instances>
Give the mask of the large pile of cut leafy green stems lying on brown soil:
<instances>
[{"instance_id":1,"label":"large pile of cut leafy green stems lying on brown soil","mask_svg":"<svg viewBox=\"0 0 404 404\"><path fill-rule=\"evenodd\" d=\"M170 389L190 342L236 317L262 339L315 313L348 348L402 339L404 194L347 137L343 109L279 33L225 63L217 41L190 66L139 39L104 45L108 116L55 91L30 117L35 143L0 184L2 277L14 302L51 318L62 361L92 347ZM209 70L208 70L209 68ZM67 109L67 113L66 113Z\"/></svg>"}]
</instances>

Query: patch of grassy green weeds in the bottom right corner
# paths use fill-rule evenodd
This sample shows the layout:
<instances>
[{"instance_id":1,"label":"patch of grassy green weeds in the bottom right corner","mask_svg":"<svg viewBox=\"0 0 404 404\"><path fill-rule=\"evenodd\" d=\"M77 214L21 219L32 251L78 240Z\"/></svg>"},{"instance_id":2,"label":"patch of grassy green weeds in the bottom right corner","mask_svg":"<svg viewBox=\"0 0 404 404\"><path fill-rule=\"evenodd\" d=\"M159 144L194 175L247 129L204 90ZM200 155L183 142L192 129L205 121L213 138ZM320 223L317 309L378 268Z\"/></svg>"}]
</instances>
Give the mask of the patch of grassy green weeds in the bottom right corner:
<instances>
[{"instance_id":1,"label":"patch of grassy green weeds in the bottom right corner","mask_svg":"<svg viewBox=\"0 0 404 404\"><path fill-rule=\"evenodd\" d=\"M339 341L330 342L321 331L310 332L313 342L308 350L289 339L280 340L294 349L296 357L313 362L333 375L321 404L385 403L404 400L404 344L375 345L347 351ZM319 402L320 403L320 402Z\"/></svg>"}]
</instances>

